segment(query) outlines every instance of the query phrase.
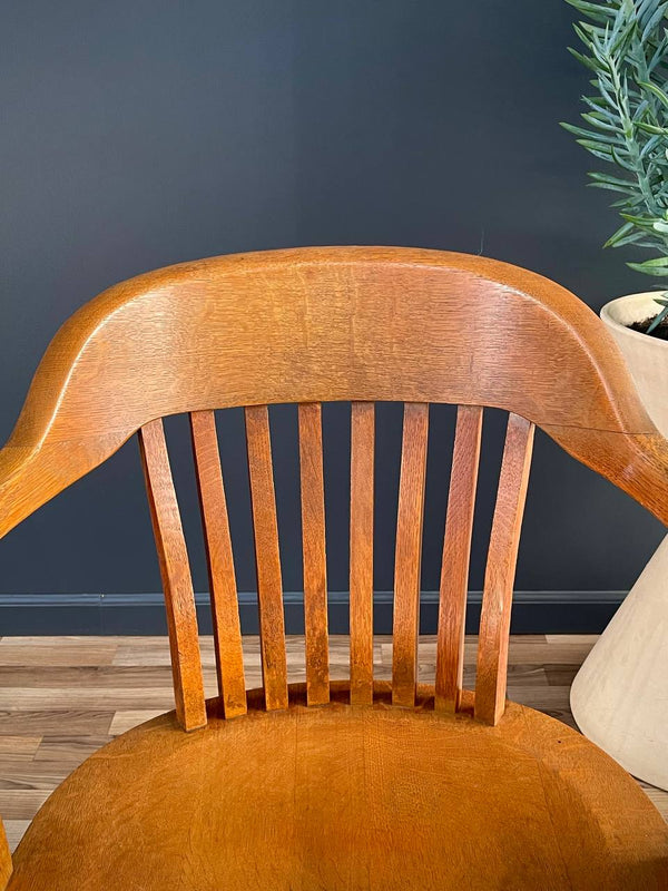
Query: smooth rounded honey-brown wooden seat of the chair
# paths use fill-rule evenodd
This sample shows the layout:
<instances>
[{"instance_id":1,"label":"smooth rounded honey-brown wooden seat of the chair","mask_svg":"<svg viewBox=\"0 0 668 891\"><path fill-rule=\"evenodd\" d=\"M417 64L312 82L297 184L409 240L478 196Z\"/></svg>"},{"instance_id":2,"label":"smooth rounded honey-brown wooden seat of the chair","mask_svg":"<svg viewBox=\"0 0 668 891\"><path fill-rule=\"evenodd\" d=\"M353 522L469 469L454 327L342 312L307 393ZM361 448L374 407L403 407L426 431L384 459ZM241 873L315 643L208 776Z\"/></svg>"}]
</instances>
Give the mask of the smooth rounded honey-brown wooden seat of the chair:
<instances>
[{"instance_id":1,"label":"smooth rounded honey-brown wooden seat of the chair","mask_svg":"<svg viewBox=\"0 0 668 891\"><path fill-rule=\"evenodd\" d=\"M668 888L668 826L635 781L563 724L333 702L209 724L174 713L53 792L10 891Z\"/></svg>"}]
</instances>

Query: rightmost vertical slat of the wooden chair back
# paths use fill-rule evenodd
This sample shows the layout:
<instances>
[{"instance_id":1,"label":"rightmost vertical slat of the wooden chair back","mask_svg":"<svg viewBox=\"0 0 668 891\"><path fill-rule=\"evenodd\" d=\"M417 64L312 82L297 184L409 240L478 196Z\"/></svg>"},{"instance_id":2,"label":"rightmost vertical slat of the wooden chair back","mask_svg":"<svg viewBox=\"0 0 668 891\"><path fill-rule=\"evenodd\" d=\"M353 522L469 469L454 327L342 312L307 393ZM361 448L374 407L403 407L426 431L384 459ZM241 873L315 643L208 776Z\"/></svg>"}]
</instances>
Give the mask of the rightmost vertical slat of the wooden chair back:
<instances>
[{"instance_id":1,"label":"rightmost vertical slat of the wooden chair back","mask_svg":"<svg viewBox=\"0 0 668 891\"><path fill-rule=\"evenodd\" d=\"M524 418L517 414L509 417L484 575L478 645L475 717L485 724L497 724L505 707L512 588L533 431L533 424Z\"/></svg>"}]
</instances>

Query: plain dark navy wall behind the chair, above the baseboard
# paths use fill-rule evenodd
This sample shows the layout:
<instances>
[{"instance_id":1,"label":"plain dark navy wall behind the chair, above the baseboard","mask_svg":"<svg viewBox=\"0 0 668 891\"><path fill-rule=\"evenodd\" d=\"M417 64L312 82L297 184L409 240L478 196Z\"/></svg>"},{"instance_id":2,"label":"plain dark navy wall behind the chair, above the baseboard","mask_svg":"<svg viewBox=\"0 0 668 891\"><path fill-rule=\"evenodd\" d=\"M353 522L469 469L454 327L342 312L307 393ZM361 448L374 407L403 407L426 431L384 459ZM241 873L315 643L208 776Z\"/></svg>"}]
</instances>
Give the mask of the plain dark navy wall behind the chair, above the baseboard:
<instances>
[{"instance_id":1,"label":"plain dark navy wall behind the chair, above the baseboard","mask_svg":"<svg viewBox=\"0 0 668 891\"><path fill-rule=\"evenodd\" d=\"M57 326L121 278L194 257L403 244L528 266L592 307L644 290L584 188L584 72L561 0L14 3L0 53L0 439ZM239 412L219 419L239 587L255 585ZM294 409L273 415L285 587L301 587ZM392 585L401 414L379 419L376 587ZM347 587L347 414L325 413L330 570ZM169 423L206 588L183 419ZM438 586L452 412L433 417L424 588ZM485 437L471 587L502 437ZM538 437L518 587L628 588L661 530ZM135 442L0 542L0 594L159 590ZM563 606L567 610L570 607Z\"/></svg>"}]
</instances>

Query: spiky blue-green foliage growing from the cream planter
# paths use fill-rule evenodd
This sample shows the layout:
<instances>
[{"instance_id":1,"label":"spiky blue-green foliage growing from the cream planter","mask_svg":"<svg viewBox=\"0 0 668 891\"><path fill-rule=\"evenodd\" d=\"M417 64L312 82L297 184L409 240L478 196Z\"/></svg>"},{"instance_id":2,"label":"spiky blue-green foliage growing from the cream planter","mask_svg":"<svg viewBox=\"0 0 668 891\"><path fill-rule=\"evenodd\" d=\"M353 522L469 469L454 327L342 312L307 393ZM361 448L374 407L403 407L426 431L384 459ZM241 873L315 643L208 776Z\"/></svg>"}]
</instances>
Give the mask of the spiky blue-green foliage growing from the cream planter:
<instances>
[{"instance_id":1,"label":"spiky blue-green foliage growing from the cream planter","mask_svg":"<svg viewBox=\"0 0 668 891\"><path fill-rule=\"evenodd\" d=\"M623 221L605 247L651 248L658 257L629 266L668 278L668 0L567 2L586 18L573 26L584 52L569 49L595 89L582 96L586 126L561 126L617 168L616 176L589 174L589 185L616 194Z\"/></svg>"}]
</instances>

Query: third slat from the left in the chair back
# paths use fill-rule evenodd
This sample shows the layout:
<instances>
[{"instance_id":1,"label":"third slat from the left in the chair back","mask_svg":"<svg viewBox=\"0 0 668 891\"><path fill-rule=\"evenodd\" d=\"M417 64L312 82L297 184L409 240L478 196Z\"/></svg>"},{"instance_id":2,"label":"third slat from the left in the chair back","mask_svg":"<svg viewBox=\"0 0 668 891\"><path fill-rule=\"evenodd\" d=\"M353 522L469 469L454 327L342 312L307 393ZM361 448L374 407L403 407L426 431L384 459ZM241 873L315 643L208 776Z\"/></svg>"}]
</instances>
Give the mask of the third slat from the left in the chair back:
<instances>
[{"instance_id":1,"label":"third slat from the left in the chair back","mask_svg":"<svg viewBox=\"0 0 668 891\"><path fill-rule=\"evenodd\" d=\"M245 411L265 705L267 709L287 708L285 618L269 413L266 405L250 405Z\"/></svg>"}]
</instances>

